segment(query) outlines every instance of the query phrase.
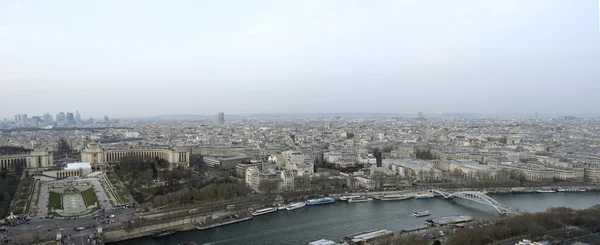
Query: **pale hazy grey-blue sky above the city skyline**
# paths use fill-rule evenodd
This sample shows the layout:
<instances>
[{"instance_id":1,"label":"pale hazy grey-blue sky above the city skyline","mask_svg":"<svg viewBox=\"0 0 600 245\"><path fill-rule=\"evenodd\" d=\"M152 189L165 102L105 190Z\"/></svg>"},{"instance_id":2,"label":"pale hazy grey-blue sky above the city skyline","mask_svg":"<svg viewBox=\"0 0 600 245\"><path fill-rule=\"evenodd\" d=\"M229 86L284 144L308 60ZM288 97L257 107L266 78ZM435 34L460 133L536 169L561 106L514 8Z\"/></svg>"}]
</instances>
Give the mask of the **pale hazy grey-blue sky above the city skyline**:
<instances>
[{"instance_id":1,"label":"pale hazy grey-blue sky above the city skyline","mask_svg":"<svg viewBox=\"0 0 600 245\"><path fill-rule=\"evenodd\" d=\"M0 118L584 113L598 0L0 0Z\"/></svg>"}]
</instances>

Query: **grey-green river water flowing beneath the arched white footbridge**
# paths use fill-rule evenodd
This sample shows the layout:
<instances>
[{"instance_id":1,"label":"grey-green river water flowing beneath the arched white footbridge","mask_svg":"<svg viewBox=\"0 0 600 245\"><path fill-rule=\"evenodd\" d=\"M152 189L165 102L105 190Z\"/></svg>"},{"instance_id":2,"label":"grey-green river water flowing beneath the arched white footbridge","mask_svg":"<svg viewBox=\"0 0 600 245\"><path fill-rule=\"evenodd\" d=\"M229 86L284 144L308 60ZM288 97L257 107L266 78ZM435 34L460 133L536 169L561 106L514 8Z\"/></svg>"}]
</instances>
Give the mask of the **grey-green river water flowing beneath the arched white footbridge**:
<instances>
[{"instance_id":1,"label":"grey-green river water flowing beneath the arched white footbridge","mask_svg":"<svg viewBox=\"0 0 600 245\"><path fill-rule=\"evenodd\" d=\"M600 204L599 192L536 193L491 195L499 203L524 211L541 212L550 207L584 209ZM429 210L431 216L416 218L414 211ZM170 237L144 237L116 243L117 245L175 245L184 242L219 245L291 245L308 244L319 239L339 241L342 237L366 230L388 229L400 231L424 224L425 219L471 215L496 216L490 206L455 198L410 199L366 203L336 202L306 206L293 211L265 214L250 221L217 227L204 231L179 232Z\"/></svg>"}]
</instances>

